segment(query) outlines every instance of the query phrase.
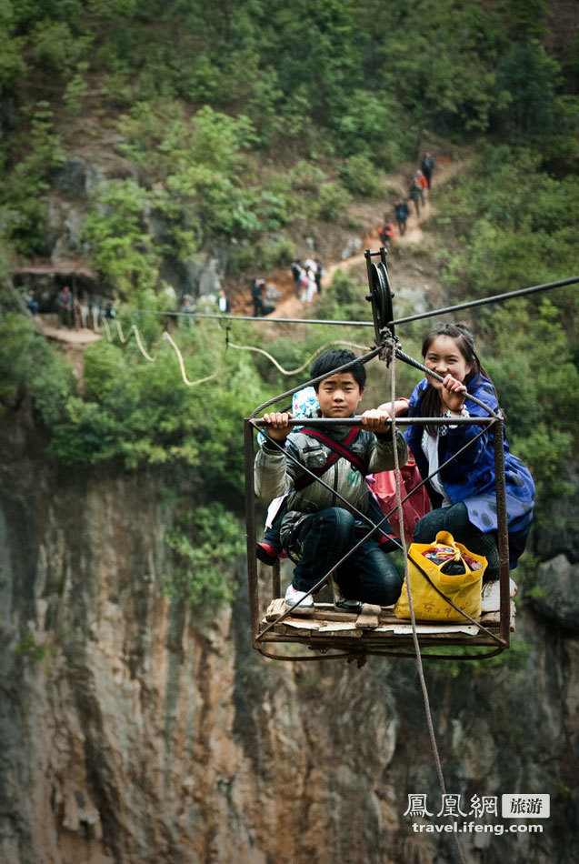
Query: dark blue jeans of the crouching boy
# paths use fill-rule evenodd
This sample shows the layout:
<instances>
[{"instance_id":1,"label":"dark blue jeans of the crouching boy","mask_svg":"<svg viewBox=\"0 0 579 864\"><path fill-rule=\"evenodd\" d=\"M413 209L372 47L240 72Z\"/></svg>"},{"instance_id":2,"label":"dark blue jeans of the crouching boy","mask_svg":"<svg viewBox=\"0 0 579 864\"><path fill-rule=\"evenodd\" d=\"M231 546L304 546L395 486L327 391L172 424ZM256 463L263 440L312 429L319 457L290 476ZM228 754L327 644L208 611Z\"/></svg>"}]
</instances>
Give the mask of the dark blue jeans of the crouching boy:
<instances>
[{"instance_id":1,"label":"dark blue jeans of the crouching boy","mask_svg":"<svg viewBox=\"0 0 579 864\"><path fill-rule=\"evenodd\" d=\"M344 507L328 507L306 516L294 527L287 552L296 562L294 588L308 591L345 553L364 537ZM400 596L403 579L374 539L365 542L334 571L344 597L390 606Z\"/></svg>"}]
</instances>

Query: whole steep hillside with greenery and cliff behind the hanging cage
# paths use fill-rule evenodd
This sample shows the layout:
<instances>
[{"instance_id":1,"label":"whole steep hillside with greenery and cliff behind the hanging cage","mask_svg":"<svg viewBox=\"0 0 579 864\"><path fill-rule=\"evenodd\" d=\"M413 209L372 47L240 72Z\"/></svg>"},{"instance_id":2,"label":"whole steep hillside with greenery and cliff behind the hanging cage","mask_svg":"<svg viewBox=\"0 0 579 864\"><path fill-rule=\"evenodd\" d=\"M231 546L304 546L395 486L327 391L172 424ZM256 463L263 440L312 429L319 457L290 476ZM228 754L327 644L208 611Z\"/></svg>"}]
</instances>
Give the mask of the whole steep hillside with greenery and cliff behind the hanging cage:
<instances>
[{"instance_id":1,"label":"whole steep hillside with greenery and cliff behind the hanging cage","mask_svg":"<svg viewBox=\"0 0 579 864\"><path fill-rule=\"evenodd\" d=\"M568 0L0 3L1 864L579 859L576 285L461 313L536 505L511 648L424 660L447 801L414 658L252 648L243 451L307 374L248 349L372 341L271 317L370 320L364 249L427 151L396 315L579 276L578 25ZM255 278L269 320L167 316L219 286L251 315ZM504 817L525 793L548 819Z\"/></svg>"}]
</instances>

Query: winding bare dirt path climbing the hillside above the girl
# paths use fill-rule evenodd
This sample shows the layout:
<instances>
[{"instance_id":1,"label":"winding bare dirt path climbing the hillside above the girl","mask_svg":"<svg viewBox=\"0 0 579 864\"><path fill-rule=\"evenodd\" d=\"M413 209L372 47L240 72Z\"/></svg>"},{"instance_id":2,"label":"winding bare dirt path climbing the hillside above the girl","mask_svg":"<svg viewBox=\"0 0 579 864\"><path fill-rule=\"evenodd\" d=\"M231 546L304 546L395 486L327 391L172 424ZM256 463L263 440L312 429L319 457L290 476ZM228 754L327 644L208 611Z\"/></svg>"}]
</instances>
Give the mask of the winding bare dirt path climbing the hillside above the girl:
<instances>
[{"instance_id":1,"label":"winding bare dirt path climbing the hillside above the girl","mask_svg":"<svg viewBox=\"0 0 579 864\"><path fill-rule=\"evenodd\" d=\"M461 174L469 164L470 160L467 159L454 162L450 159L444 159L444 157L439 157L437 159L436 169L433 175L433 188L435 188L436 186L442 186L444 183L447 183L449 180L453 179L453 177ZM400 186L401 190L403 190L406 186L406 180L404 176L401 176L399 174L388 176L386 178L386 181L389 186ZM400 236L398 228L394 228L394 246L419 246L424 243L424 233L421 226L436 212L434 203L431 199L431 195L432 189L430 190L430 192L424 193L424 205L420 207L420 216L416 215L414 203L412 201L409 202L411 212L406 222L406 231L404 233L404 236ZM376 209L378 209L377 206ZM380 216L376 216L376 221L380 221ZM363 250L370 248L376 249L378 248L378 246L380 246L380 239L378 237L377 230L374 228L373 230L369 231L368 234L364 235L362 248ZM322 280L323 290L327 289L327 286L331 285L332 279L334 278L334 275L335 273L337 273L338 270L342 270L347 273L353 267L359 266L365 266L364 251L357 252L353 256L344 258L343 261L337 261L334 264L326 266L324 277ZM288 296L286 297L286 299L280 301L277 306L275 306L275 311L272 312L271 316L267 317L295 318L303 317L304 315L309 314L310 312L308 306L304 306L301 300L299 300L297 297Z\"/></svg>"}]
</instances>

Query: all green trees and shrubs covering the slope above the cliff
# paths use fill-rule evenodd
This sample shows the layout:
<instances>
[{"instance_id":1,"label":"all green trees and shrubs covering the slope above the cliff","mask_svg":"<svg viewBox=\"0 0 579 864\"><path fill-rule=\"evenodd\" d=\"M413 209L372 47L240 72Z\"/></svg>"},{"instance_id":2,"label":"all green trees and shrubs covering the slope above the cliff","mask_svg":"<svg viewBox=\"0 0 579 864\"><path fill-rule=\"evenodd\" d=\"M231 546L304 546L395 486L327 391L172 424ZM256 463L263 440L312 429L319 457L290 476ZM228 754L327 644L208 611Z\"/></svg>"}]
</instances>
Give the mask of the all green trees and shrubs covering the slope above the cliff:
<instances>
[{"instance_id":1,"label":"all green trees and shrubs covering the slope above the cliff","mask_svg":"<svg viewBox=\"0 0 579 864\"><path fill-rule=\"evenodd\" d=\"M393 0L384 19L376 0L0 0L3 286L17 256L55 250L54 193L67 155L100 167L105 154L100 179L75 201L76 249L120 299L128 332L137 312L165 311L172 268L211 255L241 280L288 266L310 231L362 233L358 211L373 198L382 206L384 190L397 194L384 171L405 176L436 136L449 151L476 153L468 171L436 190L435 255L427 246L415 253L437 270L449 304L573 275L579 41L554 25L557 8ZM316 315L365 319L364 294L338 275ZM464 316L507 411L513 450L534 473L535 530L547 524L550 502L571 494L576 297L573 286ZM133 337L103 339L86 350L77 382L12 302L5 310L0 406L30 400L49 457L76 469L115 462L191 477L195 490L230 507L241 501L241 447L232 441L242 417L305 375L283 377L265 357L225 353L225 332L204 322L177 331L187 375L220 374L187 387L162 339L163 317L139 315L155 363ZM418 355L424 329L399 333L408 353ZM273 337L263 332L236 324L232 341L264 347ZM299 367L336 338L364 341L331 327L297 338L280 329L272 353ZM372 395L381 400L384 377L374 369ZM400 365L397 377L402 393L417 376ZM189 526L167 539L177 562L171 590L194 604L226 597L207 546L214 529L227 535L224 518L207 511L195 547ZM192 558L197 548L206 561ZM205 569L213 575L195 587L192 574Z\"/></svg>"}]
</instances>

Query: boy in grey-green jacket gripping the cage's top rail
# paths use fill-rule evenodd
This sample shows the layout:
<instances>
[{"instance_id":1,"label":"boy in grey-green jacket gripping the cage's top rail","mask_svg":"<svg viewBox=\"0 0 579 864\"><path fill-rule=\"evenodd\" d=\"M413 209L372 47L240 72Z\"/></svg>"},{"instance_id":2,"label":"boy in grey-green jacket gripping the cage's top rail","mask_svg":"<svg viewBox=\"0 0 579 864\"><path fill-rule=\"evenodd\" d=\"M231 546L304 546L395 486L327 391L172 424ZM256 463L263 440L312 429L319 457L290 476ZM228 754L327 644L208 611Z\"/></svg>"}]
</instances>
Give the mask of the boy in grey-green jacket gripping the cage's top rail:
<instances>
[{"instance_id":1,"label":"boy in grey-green jacket gripping the cage's top rail","mask_svg":"<svg viewBox=\"0 0 579 864\"><path fill-rule=\"evenodd\" d=\"M345 364L350 366L333 374L334 369ZM312 367L313 378L324 373L327 377L314 385L320 406L317 416L353 417L364 394L364 365L352 351L331 349L324 351ZM264 416L267 435L282 449L265 440L255 458L255 491L267 499L287 494L280 536L296 567L285 592L285 605L291 608L299 603L300 608L312 608L314 601L307 591L369 530L354 510L366 515L371 507L365 476L394 468L394 453L384 411L365 411L361 417L364 429L357 430L336 425L292 431L290 417L285 412ZM336 455L334 448L318 435L342 447L343 455ZM400 465L404 465L408 451L400 433L396 447ZM312 481L303 466L331 488ZM387 530L386 523L384 526ZM380 606L394 603L402 588L402 578L374 537L365 540L334 571L334 579L345 598Z\"/></svg>"}]
</instances>

